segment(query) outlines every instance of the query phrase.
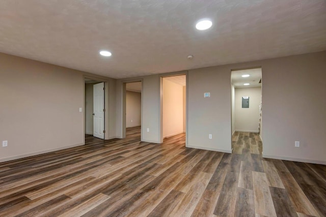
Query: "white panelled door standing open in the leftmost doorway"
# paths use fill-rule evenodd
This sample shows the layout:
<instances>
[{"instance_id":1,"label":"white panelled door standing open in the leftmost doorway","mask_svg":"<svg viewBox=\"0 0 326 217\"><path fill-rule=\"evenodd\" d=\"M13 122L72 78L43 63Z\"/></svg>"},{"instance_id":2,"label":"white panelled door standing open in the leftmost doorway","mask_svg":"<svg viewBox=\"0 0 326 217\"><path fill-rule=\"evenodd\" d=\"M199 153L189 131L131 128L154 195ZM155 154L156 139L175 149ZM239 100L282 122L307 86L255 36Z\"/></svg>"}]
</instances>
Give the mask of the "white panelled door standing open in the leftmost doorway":
<instances>
[{"instance_id":1,"label":"white panelled door standing open in the leftmost doorway","mask_svg":"<svg viewBox=\"0 0 326 217\"><path fill-rule=\"evenodd\" d=\"M93 85L93 136L104 139L104 83Z\"/></svg>"}]
</instances>

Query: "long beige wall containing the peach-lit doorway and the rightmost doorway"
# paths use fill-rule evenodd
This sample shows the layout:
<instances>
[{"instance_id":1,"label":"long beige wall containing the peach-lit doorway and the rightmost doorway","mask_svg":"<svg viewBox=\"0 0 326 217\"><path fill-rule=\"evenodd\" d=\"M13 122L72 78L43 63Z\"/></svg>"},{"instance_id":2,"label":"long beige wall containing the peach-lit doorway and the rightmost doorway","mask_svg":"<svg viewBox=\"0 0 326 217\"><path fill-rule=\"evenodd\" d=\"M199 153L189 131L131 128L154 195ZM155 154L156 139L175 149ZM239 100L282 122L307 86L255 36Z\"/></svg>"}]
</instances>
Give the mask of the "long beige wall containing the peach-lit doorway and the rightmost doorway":
<instances>
[{"instance_id":1,"label":"long beige wall containing the peach-lit doorway and the rightmost doorway","mask_svg":"<svg viewBox=\"0 0 326 217\"><path fill-rule=\"evenodd\" d=\"M189 70L187 146L231 152L231 70L252 67L262 67L263 156L326 164L326 51ZM150 128L144 141L159 143L160 75L138 79L144 79L144 129Z\"/></svg>"}]
</instances>

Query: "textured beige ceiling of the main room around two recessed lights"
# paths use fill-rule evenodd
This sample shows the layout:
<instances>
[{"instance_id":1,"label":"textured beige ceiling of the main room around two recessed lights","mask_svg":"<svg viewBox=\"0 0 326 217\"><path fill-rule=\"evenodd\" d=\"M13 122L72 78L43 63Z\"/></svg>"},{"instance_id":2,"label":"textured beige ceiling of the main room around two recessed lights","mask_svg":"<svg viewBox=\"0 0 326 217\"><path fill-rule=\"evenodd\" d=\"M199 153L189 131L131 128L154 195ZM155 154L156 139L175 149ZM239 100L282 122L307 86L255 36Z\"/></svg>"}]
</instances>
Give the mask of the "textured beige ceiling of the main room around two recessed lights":
<instances>
[{"instance_id":1,"label":"textured beige ceiling of the main room around two recessed lights","mask_svg":"<svg viewBox=\"0 0 326 217\"><path fill-rule=\"evenodd\" d=\"M324 0L0 1L0 52L112 78L321 50Z\"/></svg>"}]
</instances>

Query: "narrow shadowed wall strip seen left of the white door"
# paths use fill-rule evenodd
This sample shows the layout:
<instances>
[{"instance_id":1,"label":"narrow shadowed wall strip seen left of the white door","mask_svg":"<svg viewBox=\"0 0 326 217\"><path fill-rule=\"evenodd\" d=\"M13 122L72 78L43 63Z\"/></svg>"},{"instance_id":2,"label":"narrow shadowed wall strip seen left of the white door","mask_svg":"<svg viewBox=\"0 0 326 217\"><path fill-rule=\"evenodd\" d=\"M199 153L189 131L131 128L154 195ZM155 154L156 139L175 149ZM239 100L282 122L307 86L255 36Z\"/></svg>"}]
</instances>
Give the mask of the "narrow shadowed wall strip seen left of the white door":
<instances>
[{"instance_id":1,"label":"narrow shadowed wall strip seen left of the white door","mask_svg":"<svg viewBox=\"0 0 326 217\"><path fill-rule=\"evenodd\" d=\"M93 84L85 84L85 133L93 135Z\"/></svg>"}]
</instances>

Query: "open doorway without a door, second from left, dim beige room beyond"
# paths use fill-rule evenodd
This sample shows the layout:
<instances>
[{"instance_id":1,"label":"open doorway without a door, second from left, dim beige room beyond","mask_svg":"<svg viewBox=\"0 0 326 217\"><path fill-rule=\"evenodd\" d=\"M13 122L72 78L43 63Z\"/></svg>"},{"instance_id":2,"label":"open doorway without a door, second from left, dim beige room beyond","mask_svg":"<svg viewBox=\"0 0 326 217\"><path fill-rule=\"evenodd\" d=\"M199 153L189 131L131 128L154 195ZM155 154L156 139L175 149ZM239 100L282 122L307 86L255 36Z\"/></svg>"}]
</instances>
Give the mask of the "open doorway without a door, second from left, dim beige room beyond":
<instances>
[{"instance_id":1,"label":"open doorway without a door, second from left, dim beige room beyond","mask_svg":"<svg viewBox=\"0 0 326 217\"><path fill-rule=\"evenodd\" d=\"M125 135L139 138L142 131L142 82L126 83Z\"/></svg>"}]
</instances>

